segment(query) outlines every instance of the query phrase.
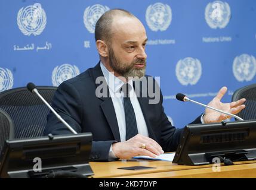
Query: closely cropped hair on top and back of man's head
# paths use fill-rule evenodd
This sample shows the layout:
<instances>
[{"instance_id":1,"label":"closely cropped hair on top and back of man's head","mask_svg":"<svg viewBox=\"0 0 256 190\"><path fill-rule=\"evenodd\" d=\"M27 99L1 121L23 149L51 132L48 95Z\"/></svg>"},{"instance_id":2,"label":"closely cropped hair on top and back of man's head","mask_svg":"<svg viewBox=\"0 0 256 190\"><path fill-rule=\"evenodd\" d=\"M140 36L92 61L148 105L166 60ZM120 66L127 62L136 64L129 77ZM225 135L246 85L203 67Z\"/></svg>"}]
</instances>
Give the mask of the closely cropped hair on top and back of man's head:
<instances>
[{"instance_id":1,"label":"closely cropped hair on top and back of man's head","mask_svg":"<svg viewBox=\"0 0 256 190\"><path fill-rule=\"evenodd\" d=\"M96 23L95 41L103 40L104 42L110 42L116 28L113 26L113 21L121 21L124 18L137 19L131 12L124 9L112 9L105 12Z\"/></svg>"}]
</instances>

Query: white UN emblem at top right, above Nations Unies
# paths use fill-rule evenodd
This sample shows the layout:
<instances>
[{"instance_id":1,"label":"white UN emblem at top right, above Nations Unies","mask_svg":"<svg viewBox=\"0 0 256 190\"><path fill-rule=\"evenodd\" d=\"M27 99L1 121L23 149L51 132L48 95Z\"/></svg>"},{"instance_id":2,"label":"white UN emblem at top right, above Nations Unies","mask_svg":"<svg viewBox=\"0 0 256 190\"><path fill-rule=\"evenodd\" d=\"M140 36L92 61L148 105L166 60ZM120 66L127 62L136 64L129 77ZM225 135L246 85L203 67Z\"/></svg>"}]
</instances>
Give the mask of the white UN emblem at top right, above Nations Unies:
<instances>
[{"instance_id":1,"label":"white UN emblem at top right, above Nations Unies","mask_svg":"<svg viewBox=\"0 0 256 190\"><path fill-rule=\"evenodd\" d=\"M212 29L226 27L230 20L230 14L230 7L227 2L210 2L205 8L205 20Z\"/></svg>"}]
</instances>

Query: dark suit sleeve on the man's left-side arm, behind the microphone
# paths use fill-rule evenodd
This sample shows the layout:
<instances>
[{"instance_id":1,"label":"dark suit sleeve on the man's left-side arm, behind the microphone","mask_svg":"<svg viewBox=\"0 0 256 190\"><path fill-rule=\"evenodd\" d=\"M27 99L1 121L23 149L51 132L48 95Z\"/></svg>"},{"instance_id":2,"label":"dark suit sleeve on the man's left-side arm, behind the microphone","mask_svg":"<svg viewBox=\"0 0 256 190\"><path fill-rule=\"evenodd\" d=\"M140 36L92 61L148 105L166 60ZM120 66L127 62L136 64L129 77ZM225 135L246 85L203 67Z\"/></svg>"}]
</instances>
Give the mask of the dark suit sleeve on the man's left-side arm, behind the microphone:
<instances>
[{"instance_id":1,"label":"dark suit sleeve on the man's left-side arm, behind the microphone","mask_svg":"<svg viewBox=\"0 0 256 190\"><path fill-rule=\"evenodd\" d=\"M52 106L54 110L67 122L76 132L82 132L83 107L81 96L67 81L62 83L54 94ZM60 122L53 112L47 116L47 125L44 135L63 135L71 132ZM93 138L93 137L92 137ZM111 161L109 160L109 150L115 141L92 141L90 161Z\"/></svg>"}]
</instances>

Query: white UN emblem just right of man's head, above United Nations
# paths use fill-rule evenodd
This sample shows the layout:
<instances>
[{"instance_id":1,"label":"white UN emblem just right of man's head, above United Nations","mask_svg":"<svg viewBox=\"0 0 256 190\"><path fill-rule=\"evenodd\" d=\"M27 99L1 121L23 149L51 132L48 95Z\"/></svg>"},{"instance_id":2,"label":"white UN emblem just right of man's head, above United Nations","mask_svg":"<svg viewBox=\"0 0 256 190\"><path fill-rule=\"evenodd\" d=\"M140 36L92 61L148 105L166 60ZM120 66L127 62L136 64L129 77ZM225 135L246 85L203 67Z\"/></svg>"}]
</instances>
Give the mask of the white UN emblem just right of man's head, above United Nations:
<instances>
[{"instance_id":1,"label":"white UN emblem just right of man's head, above United Nations","mask_svg":"<svg viewBox=\"0 0 256 190\"><path fill-rule=\"evenodd\" d=\"M168 29L172 20L172 11L169 5L161 2L149 5L146 11L147 26L153 31L165 31Z\"/></svg>"}]
</instances>

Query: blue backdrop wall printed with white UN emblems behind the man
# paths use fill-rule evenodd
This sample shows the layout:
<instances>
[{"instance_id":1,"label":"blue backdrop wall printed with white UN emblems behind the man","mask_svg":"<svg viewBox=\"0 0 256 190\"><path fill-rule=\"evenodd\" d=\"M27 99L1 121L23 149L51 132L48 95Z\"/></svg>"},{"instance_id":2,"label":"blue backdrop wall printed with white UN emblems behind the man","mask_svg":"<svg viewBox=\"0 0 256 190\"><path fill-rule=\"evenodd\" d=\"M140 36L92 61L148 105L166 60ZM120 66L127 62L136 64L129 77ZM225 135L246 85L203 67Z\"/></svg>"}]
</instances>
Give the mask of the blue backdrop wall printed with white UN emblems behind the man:
<instances>
[{"instance_id":1,"label":"blue backdrop wall printed with white UN emblems behind the man","mask_svg":"<svg viewBox=\"0 0 256 190\"><path fill-rule=\"evenodd\" d=\"M147 74L161 78L166 114L183 127L223 85L229 102L255 83L256 1L0 0L0 91L59 85L97 64L94 26L107 9L124 8L147 30Z\"/></svg>"}]
</instances>

